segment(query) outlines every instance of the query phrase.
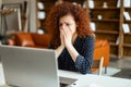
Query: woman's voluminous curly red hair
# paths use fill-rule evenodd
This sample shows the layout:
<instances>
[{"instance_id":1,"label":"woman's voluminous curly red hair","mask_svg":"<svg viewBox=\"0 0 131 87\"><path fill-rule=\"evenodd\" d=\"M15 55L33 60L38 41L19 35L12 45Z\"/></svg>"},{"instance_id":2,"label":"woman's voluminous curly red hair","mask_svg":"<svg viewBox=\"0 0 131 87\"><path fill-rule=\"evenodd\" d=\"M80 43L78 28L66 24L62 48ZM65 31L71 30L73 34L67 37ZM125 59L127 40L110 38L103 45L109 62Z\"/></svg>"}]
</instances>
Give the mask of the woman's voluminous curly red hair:
<instances>
[{"instance_id":1,"label":"woman's voluminous curly red hair","mask_svg":"<svg viewBox=\"0 0 131 87\"><path fill-rule=\"evenodd\" d=\"M52 7L46 20L46 29L52 36L51 44L55 46L55 48L60 45L59 20L68 14L71 14L74 17L74 21L78 25L78 36L94 36L90 27L90 17L87 12L76 4L62 2Z\"/></svg>"}]
</instances>

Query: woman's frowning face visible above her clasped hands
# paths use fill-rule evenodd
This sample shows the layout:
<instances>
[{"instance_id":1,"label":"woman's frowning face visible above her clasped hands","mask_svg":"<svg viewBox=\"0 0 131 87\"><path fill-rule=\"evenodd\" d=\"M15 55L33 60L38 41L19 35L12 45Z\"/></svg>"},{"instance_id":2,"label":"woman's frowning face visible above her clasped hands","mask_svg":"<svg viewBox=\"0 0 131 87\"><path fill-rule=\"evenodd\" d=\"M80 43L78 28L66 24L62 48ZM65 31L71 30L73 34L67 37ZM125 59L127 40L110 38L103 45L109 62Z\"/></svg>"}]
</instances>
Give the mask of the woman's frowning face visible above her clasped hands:
<instances>
[{"instance_id":1,"label":"woman's frowning face visible above her clasped hands","mask_svg":"<svg viewBox=\"0 0 131 87\"><path fill-rule=\"evenodd\" d=\"M76 23L71 14L64 15L59 20L59 29L69 28L72 34L76 32Z\"/></svg>"}]
</instances>

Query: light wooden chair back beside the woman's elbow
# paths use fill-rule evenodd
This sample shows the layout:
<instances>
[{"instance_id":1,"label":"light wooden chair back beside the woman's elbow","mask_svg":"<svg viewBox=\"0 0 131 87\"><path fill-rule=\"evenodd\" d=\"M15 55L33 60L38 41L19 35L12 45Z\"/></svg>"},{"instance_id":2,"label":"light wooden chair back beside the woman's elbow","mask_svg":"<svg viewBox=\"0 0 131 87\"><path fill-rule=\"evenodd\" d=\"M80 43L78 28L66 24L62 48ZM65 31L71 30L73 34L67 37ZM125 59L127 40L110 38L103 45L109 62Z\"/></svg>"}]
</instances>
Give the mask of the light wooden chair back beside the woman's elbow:
<instances>
[{"instance_id":1,"label":"light wooden chair back beside the woman's elbow","mask_svg":"<svg viewBox=\"0 0 131 87\"><path fill-rule=\"evenodd\" d=\"M104 57L102 57L98 60L93 61L92 67L93 69L98 69L98 75L102 75L103 63L104 63Z\"/></svg>"}]
</instances>

